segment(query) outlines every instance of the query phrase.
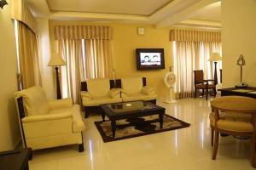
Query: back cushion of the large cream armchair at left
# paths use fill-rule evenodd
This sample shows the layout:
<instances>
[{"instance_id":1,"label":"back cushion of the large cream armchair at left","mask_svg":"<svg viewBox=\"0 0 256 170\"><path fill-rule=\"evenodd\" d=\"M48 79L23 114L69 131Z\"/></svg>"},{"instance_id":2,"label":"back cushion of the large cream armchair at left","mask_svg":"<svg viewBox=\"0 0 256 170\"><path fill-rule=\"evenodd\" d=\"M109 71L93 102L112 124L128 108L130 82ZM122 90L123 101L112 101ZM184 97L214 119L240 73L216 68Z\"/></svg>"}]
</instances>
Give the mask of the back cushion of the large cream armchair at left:
<instances>
[{"instance_id":1,"label":"back cushion of the large cream armchair at left","mask_svg":"<svg viewBox=\"0 0 256 170\"><path fill-rule=\"evenodd\" d=\"M49 103L43 88L39 86L27 88L16 92L15 97L22 97L26 116L49 114Z\"/></svg>"}]
</instances>

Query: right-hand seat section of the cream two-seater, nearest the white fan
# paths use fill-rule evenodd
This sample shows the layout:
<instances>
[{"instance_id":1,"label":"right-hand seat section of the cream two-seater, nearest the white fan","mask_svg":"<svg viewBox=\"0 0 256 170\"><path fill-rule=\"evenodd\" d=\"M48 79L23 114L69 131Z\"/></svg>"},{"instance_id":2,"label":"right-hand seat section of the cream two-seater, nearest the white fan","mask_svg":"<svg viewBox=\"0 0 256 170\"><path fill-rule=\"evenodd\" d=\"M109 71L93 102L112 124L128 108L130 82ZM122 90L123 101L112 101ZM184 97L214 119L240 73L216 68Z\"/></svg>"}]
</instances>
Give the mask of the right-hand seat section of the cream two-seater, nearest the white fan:
<instances>
[{"instance_id":1,"label":"right-hand seat section of the cream two-seater, nearest the white fan","mask_svg":"<svg viewBox=\"0 0 256 170\"><path fill-rule=\"evenodd\" d=\"M156 103L156 94L154 89L148 87L146 78L143 77L130 77L122 78L121 98L124 102L135 100L146 100Z\"/></svg>"}]
</instances>

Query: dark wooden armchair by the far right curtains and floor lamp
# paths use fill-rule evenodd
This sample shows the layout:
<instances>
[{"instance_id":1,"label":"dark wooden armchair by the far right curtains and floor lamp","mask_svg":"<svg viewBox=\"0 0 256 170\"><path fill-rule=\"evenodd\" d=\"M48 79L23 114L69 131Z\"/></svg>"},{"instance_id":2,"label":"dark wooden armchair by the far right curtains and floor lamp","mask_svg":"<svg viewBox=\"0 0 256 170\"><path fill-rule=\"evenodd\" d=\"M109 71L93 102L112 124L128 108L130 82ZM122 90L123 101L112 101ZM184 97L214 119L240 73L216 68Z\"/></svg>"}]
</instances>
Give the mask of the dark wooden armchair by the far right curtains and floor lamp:
<instances>
[{"instance_id":1,"label":"dark wooden armchair by the far right curtains and floor lamp","mask_svg":"<svg viewBox=\"0 0 256 170\"><path fill-rule=\"evenodd\" d=\"M209 82L214 82L214 80L204 80L204 71L194 71L194 83L195 83L195 98L198 89L202 90L202 96L204 96L205 90L207 91L207 99L208 99L208 90L212 89L214 93L214 97L216 96L216 86L215 84L209 84Z\"/></svg>"}]
</instances>

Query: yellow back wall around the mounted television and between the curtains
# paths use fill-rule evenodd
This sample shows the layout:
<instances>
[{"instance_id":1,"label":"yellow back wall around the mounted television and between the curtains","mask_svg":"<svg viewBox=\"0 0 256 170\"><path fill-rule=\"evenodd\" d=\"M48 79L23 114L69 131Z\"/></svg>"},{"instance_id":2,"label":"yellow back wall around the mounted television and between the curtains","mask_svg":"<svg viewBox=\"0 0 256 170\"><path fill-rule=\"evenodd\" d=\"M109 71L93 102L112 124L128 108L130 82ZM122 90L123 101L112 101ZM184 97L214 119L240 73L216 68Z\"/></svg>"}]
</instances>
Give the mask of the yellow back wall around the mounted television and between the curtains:
<instances>
[{"instance_id":1,"label":"yellow back wall around the mounted television and between the curtains","mask_svg":"<svg viewBox=\"0 0 256 170\"><path fill-rule=\"evenodd\" d=\"M93 25L93 23L50 20L49 32L52 50L55 51L54 26L57 25ZM96 25L96 24L94 24ZM172 42L169 41L170 29L146 27L144 36L137 35L137 25L104 23L113 28L113 67L116 77L147 77L148 85L155 88L159 99L166 97L167 89L163 77L172 65ZM142 26L142 25L140 25ZM156 71L137 71L136 48L164 48L166 69Z\"/></svg>"}]
</instances>

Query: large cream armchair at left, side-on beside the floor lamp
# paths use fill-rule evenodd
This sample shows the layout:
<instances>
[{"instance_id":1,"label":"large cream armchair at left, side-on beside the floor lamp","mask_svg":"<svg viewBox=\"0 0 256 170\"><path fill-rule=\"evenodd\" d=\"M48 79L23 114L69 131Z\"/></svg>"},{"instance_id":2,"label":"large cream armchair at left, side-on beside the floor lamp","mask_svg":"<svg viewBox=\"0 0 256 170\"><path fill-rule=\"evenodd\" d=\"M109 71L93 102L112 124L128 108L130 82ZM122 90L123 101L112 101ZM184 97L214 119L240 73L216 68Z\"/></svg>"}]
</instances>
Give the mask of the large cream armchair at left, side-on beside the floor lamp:
<instances>
[{"instance_id":1,"label":"large cream armchair at left, side-on beside the floor lamp","mask_svg":"<svg viewBox=\"0 0 256 170\"><path fill-rule=\"evenodd\" d=\"M39 150L79 144L79 151L84 151L84 122L72 99L48 101L43 88L34 86L16 92L15 101L25 147Z\"/></svg>"}]
</instances>

